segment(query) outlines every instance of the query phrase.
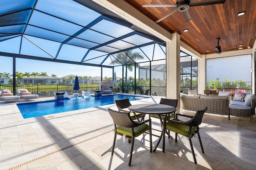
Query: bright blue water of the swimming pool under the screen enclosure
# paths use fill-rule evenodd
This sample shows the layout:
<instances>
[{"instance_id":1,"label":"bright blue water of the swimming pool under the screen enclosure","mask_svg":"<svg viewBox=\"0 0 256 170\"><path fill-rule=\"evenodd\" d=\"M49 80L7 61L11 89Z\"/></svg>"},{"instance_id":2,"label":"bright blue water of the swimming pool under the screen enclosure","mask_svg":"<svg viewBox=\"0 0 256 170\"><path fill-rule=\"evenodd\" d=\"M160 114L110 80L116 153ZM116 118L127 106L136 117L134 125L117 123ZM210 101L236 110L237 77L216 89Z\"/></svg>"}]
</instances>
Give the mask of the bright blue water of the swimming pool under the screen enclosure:
<instances>
[{"instance_id":1,"label":"bright blue water of the swimming pool under the screen enclosure","mask_svg":"<svg viewBox=\"0 0 256 170\"><path fill-rule=\"evenodd\" d=\"M145 99L146 97L140 96L127 96L127 95L110 95L102 97L90 98L78 98L73 100L64 100L64 101L48 101L48 102L33 102L33 103L24 103L17 104L18 108L24 119L30 117L37 117L43 115L49 115L54 113L60 113L64 111L72 111L78 109L86 109L90 107L104 106L108 104L114 104L115 100L128 98L132 100Z\"/></svg>"}]
</instances>

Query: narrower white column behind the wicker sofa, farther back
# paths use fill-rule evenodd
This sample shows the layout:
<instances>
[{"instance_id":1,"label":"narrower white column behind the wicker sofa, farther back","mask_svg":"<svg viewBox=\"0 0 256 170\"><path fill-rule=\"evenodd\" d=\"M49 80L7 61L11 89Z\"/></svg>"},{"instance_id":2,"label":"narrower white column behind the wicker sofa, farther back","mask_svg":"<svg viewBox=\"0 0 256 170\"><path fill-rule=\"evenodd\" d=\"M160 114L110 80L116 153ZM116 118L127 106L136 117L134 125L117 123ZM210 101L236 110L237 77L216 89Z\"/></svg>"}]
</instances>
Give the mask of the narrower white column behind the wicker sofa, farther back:
<instances>
[{"instance_id":1,"label":"narrower white column behind the wicker sofa, farther back","mask_svg":"<svg viewBox=\"0 0 256 170\"><path fill-rule=\"evenodd\" d=\"M204 94L206 88L206 59L205 55L202 55L198 59L198 94Z\"/></svg>"}]
</instances>

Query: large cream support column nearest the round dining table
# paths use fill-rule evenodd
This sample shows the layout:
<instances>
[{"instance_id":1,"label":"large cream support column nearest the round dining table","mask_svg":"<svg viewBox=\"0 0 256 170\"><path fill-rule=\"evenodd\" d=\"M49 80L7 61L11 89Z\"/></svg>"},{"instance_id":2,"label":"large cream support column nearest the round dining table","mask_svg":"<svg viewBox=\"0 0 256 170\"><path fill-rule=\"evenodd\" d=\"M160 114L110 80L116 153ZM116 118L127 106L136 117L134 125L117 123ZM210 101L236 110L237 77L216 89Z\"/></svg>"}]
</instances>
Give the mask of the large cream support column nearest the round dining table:
<instances>
[{"instance_id":1,"label":"large cream support column nearest the round dining table","mask_svg":"<svg viewBox=\"0 0 256 170\"><path fill-rule=\"evenodd\" d=\"M180 34L172 33L172 41L166 42L166 98L178 99L180 112Z\"/></svg>"}]
</instances>

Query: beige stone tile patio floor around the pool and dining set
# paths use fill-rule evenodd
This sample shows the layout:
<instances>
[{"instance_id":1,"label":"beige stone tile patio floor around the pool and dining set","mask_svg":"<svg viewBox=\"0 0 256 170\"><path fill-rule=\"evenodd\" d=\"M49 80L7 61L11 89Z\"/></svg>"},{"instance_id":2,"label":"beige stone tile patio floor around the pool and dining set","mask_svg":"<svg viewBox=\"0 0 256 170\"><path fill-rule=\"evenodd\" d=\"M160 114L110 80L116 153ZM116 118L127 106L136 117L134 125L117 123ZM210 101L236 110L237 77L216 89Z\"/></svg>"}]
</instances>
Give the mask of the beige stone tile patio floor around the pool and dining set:
<instances>
[{"instance_id":1,"label":"beige stone tile patio floor around the pool and dining set","mask_svg":"<svg viewBox=\"0 0 256 170\"><path fill-rule=\"evenodd\" d=\"M48 99L48 98L46 98ZM46 100L40 98L39 100ZM160 98L132 101L132 104L159 103ZM224 169L253 170L256 166L255 119L205 114L200 125L204 154L198 138L192 143L198 164L194 164L186 137L162 142L156 152L149 152L149 135L134 143L131 167L128 166L130 144L114 138L113 121L107 109L115 104L23 119L16 104L0 102L0 170L110 170L110 169ZM184 111L186 114L193 112ZM160 128L158 119L152 126ZM153 131L153 133L157 133ZM171 133L175 136L174 133ZM153 138L153 146L158 138Z\"/></svg>"}]
</instances>

